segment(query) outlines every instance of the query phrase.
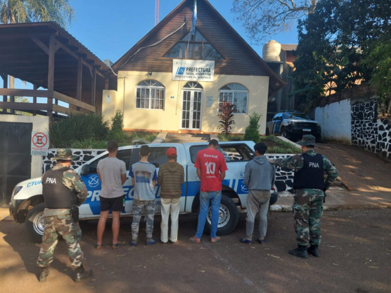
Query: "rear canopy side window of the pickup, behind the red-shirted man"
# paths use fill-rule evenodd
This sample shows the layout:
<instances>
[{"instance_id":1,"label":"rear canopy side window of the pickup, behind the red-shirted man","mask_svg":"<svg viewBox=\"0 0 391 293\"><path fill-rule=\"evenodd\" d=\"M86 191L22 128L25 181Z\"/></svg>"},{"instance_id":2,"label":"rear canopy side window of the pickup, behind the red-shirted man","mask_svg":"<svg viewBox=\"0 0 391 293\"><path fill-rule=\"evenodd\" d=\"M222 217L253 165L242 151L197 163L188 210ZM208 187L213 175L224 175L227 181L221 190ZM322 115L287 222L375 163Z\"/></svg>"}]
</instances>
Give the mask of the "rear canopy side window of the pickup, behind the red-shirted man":
<instances>
[{"instance_id":1,"label":"rear canopy side window of the pickup, behind the red-shirted man","mask_svg":"<svg viewBox=\"0 0 391 293\"><path fill-rule=\"evenodd\" d=\"M207 145L194 145L193 147L190 147L191 162L195 163L198 152L207 147ZM219 144L217 150L224 155L226 162L249 161L254 157L253 151L248 148L246 144L242 143Z\"/></svg>"}]
</instances>

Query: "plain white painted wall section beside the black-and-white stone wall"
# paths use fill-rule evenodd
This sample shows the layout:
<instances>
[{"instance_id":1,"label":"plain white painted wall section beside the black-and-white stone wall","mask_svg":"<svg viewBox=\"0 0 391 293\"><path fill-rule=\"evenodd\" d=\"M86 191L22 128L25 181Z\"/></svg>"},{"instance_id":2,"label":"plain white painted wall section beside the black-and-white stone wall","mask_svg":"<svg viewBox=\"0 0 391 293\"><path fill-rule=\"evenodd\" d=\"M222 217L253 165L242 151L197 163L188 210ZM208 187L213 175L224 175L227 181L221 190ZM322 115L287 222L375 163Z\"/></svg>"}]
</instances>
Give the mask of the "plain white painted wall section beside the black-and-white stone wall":
<instances>
[{"instance_id":1,"label":"plain white painted wall section beside the black-and-white stone wall","mask_svg":"<svg viewBox=\"0 0 391 293\"><path fill-rule=\"evenodd\" d=\"M350 100L342 100L315 109L315 120L322 127L322 138L351 144Z\"/></svg>"}]
</instances>

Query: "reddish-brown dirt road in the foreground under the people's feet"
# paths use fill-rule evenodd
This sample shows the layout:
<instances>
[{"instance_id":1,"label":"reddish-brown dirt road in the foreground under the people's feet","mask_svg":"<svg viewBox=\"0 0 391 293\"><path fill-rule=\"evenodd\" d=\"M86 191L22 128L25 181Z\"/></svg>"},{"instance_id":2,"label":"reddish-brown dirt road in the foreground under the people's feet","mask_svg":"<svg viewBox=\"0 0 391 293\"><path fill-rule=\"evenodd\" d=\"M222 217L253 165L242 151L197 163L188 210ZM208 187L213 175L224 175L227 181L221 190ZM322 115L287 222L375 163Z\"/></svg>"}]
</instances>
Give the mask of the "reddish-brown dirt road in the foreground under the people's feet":
<instances>
[{"instance_id":1,"label":"reddish-brown dirt road in the foreground under the people's feet","mask_svg":"<svg viewBox=\"0 0 391 293\"><path fill-rule=\"evenodd\" d=\"M239 243L244 236L241 214L235 231L211 244L187 239L197 216L180 217L178 245L110 248L109 226L104 249L95 250L96 221L81 223L81 247L94 278L76 284L66 247L60 242L46 283L39 283L35 262L39 246L24 235L0 208L0 284L2 292L391 292L391 209L327 211L322 222L321 257L288 254L296 246L290 213L269 214L266 245ZM130 219L120 236L130 240ZM154 236L159 237L160 217ZM140 231L144 240L145 230Z\"/></svg>"}]
</instances>

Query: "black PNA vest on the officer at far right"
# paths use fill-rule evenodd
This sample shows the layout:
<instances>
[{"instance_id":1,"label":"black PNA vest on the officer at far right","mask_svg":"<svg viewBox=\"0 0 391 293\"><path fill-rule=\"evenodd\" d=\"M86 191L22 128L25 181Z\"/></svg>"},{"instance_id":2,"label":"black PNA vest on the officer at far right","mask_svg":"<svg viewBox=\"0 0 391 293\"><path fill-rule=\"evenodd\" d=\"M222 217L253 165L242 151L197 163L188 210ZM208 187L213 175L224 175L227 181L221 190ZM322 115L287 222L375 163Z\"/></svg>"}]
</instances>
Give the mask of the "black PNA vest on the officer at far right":
<instances>
[{"instance_id":1,"label":"black PNA vest on the officer at far right","mask_svg":"<svg viewBox=\"0 0 391 293\"><path fill-rule=\"evenodd\" d=\"M305 153L302 156L304 165L295 172L293 189L315 188L323 190L323 156L321 154L310 156Z\"/></svg>"}]
</instances>

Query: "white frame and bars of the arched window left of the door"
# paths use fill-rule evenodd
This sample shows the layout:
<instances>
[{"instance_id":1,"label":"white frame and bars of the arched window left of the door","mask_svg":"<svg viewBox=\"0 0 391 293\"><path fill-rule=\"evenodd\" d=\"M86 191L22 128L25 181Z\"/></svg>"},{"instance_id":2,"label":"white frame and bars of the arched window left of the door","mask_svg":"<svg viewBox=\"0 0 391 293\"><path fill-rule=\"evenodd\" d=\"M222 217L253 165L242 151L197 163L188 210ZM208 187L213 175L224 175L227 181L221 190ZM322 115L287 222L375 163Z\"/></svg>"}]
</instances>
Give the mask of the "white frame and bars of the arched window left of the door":
<instances>
[{"instance_id":1,"label":"white frame and bars of the arched window left of the door","mask_svg":"<svg viewBox=\"0 0 391 293\"><path fill-rule=\"evenodd\" d=\"M148 97L144 97L144 98L137 97L137 94L139 92L144 92L144 96L148 95ZM158 94L156 94L156 92L158 92ZM161 92L162 92L162 99L160 99ZM154 93L153 97L151 95L152 93ZM153 79L146 79L140 81L136 85L135 95L136 95L136 100L135 100L134 107L136 109L164 110L165 89L164 89L164 85L161 82ZM137 106L137 100L139 100L139 106ZM142 104L142 100L148 101L148 107L145 107L145 102L144 102L144 107L140 106ZM161 108L160 108L160 100L162 101ZM155 101L155 103L157 102L159 107L158 108L152 107L152 101Z\"/></svg>"}]
</instances>

